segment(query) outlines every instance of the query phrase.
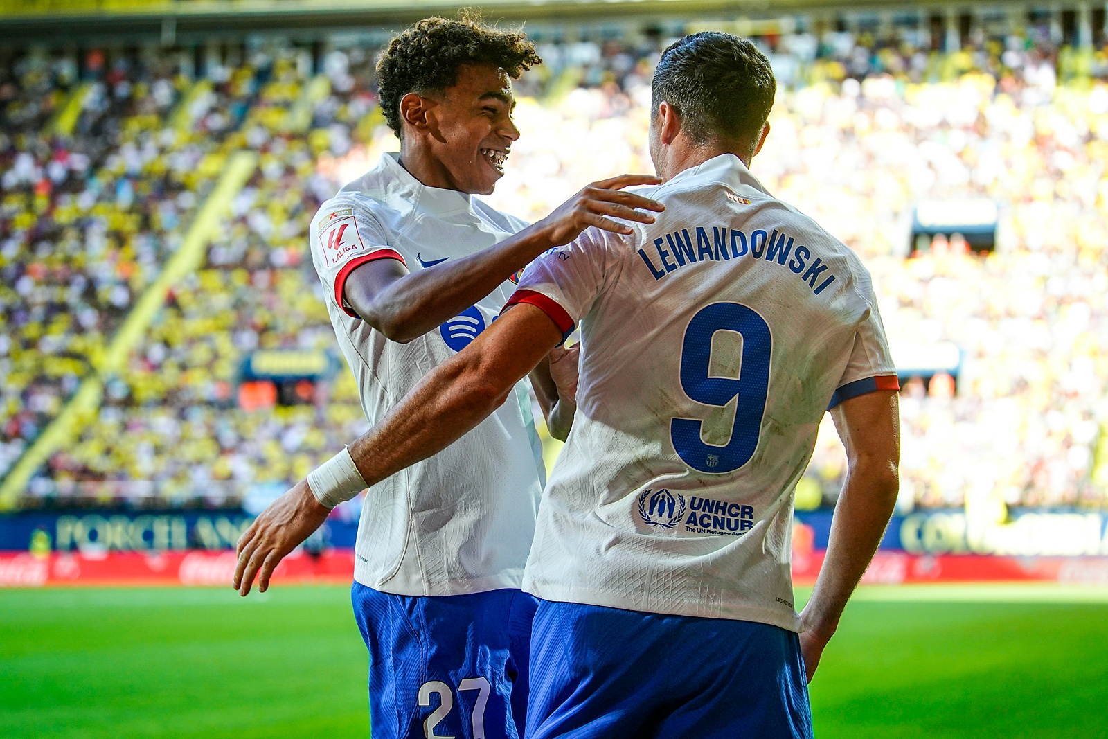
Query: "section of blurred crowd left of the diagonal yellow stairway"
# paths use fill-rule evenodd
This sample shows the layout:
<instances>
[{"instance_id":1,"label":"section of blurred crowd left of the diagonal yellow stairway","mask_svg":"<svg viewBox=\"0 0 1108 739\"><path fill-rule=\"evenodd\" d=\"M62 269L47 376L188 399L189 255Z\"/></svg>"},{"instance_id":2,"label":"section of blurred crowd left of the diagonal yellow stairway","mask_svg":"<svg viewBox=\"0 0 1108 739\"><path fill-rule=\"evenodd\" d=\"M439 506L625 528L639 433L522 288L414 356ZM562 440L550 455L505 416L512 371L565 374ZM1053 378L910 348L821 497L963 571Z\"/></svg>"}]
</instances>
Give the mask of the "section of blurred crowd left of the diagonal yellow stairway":
<instances>
[{"instance_id":1,"label":"section of blurred crowd left of the diagonal yellow stairway","mask_svg":"<svg viewBox=\"0 0 1108 739\"><path fill-rule=\"evenodd\" d=\"M0 83L0 474L58 414L265 111L246 68L31 55ZM68 88L68 92L63 90Z\"/></svg>"}]
</instances>

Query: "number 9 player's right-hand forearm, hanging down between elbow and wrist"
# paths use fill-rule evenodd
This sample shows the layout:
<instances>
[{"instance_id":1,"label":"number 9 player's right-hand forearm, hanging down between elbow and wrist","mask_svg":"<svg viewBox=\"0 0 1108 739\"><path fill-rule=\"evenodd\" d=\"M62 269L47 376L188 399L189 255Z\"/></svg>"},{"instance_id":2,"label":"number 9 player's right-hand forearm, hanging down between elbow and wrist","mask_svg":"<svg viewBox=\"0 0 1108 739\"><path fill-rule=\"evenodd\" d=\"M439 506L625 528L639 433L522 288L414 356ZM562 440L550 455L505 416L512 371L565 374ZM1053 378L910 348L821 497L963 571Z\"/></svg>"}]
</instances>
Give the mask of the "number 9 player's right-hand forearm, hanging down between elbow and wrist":
<instances>
[{"instance_id":1,"label":"number 9 player's right-hand forearm, hanging down between elbow and wrist","mask_svg":"<svg viewBox=\"0 0 1108 739\"><path fill-rule=\"evenodd\" d=\"M852 465L835 505L827 556L804 607L806 629L829 639L881 543L896 503L894 463Z\"/></svg>"}]
</instances>

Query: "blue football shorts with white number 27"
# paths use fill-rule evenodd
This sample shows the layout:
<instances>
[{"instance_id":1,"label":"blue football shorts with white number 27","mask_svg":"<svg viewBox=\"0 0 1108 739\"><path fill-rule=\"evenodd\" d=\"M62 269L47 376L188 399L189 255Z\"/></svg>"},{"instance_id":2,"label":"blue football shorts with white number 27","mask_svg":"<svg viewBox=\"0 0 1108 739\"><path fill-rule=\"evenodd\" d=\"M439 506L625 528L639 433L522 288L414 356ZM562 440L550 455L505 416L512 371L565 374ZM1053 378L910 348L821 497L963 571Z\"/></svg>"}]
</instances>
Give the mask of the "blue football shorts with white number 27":
<instances>
[{"instance_id":1,"label":"blue football shorts with white number 27","mask_svg":"<svg viewBox=\"0 0 1108 739\"><path fill-rule=\"evenodd\" d=\"M537 598L515 589L406 596L361 583L373 739L519 739Z\"/></svg>"}]
</instances>

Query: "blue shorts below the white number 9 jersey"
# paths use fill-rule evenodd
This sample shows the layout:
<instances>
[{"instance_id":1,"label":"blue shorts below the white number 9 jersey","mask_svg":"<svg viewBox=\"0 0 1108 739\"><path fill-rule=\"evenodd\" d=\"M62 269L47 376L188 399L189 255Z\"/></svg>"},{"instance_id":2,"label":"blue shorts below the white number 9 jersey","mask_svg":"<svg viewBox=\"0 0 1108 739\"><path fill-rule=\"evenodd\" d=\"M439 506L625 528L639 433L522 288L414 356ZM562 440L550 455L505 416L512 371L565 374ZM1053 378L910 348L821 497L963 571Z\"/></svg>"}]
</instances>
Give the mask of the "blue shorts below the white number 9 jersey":
<instances>
[{"instance_id":1,"label":"blue shorts below the white number 9 jersey","mask_svg":"<svg viewBox=\"0 0 1108 739\"><path fill-rule=\"evenodd\" d=\"M527 739L810 739L800 640L768 624L542 601Z\"/></svg>"}]
</instances>

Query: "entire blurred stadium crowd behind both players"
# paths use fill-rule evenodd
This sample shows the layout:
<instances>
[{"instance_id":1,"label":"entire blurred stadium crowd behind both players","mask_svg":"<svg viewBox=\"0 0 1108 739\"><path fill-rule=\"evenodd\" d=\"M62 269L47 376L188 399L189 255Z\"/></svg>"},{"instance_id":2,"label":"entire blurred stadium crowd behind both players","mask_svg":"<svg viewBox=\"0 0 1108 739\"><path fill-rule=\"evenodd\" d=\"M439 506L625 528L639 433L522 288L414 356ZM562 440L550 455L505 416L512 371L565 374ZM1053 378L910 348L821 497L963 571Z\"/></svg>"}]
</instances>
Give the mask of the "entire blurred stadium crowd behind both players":
<instances>
[{"instance_id":1,"label":"entire blurred stadium crowd behind both players","mask_svg":"<svg viewBox=\"0 0 1108 739\"><path fill-rule=\"evenodd\" d=\"M924 17L529 29L545 63L515 85L522 136L489 199L534 220L589 181L653 172L661 49L706 28L751 35L779 83L752 172L861 255L894 357L956 347L953 366L902 378L901 510L1108 507L1108 55L1097 22L1057 16L953 30ZM307 227L398 148L376 105L376 51L266 42L6 61L0 478L95 371L228 156L258 155L203 266L172 287L23 505L237 505L367 428ZM913 236L917 204L971 198L996 204L992 250ZM324 355L335 371L257 379L259 351ZM556 451L548 441L548 463ZM833 504L844 469L828 421L798 505Z\"/></svg>"}]
</instances>

